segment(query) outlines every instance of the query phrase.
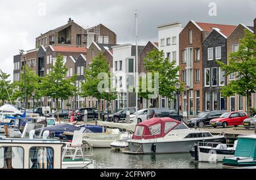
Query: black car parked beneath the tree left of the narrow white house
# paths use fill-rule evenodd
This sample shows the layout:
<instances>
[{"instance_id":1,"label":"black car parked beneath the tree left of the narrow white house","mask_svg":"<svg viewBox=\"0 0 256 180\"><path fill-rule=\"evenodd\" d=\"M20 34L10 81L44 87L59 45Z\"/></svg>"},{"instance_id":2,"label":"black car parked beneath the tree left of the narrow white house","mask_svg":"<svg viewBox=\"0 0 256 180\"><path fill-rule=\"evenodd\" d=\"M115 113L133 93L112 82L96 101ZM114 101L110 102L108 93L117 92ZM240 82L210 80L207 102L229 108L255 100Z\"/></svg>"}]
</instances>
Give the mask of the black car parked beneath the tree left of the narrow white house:
<instances>
[{"instance_id":1,"label":"black car parked beneath the tree left of the narrow white house","mask_svg":"<svg viewBox=\"0 0 256 180\"><path fill-rule=\"evenodd\" d=\"M76 109L74 112L74 118L75 121L84 121L84 112L85 110L87 110L88 113L88 120L90 119L98 119L98 109L96 108L80 108L80 109ZM107 114L106 112L101 111L100 115L102 117L102 115Z\"/></svg>"}]
</instances>

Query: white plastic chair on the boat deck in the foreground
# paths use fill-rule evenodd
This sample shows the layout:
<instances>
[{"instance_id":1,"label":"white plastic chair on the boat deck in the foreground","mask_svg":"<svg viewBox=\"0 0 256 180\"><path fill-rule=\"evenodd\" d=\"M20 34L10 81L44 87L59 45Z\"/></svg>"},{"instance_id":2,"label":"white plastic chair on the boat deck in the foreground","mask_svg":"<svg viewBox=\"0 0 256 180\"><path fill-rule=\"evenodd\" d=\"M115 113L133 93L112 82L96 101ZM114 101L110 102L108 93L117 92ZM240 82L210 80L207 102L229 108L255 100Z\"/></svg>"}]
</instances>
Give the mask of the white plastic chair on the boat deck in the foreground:
<instances>
[{"instance_id":1,"label":"white plastic chair on the boat deck in the foreground","mask_svg":"<svg viewBox=\"0 0 256 180\"><path fill-rule=\"evenodd\" d=\"M72 143L67 143L63 149L63 160L65 157L72 157L72 159L75 160L77 152L79 151L84 160L84 153L82 152L82 131L74 131ZM69 155L67 155L68 151L70 152ZM73 151L75 152L73 153Z\"/></svg>"}]
</instances>

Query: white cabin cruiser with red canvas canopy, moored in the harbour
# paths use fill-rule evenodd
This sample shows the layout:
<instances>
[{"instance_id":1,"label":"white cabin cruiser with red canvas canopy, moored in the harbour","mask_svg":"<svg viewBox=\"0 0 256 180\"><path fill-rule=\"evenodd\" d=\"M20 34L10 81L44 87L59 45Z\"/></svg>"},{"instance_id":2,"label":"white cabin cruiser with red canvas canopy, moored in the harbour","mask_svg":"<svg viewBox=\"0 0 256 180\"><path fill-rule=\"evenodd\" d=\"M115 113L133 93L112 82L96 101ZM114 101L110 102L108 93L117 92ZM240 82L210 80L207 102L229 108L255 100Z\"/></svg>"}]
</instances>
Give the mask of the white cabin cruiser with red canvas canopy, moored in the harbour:
<instances>
[{"instance_id":1,"label":"white cabin cruiser with red canvas canopy, moored in the harbour","mask_svg":"<svg viewBox=\"0 0 256 180\"><path fill-rule=\"evenodd\" d=\"M185 153L198 142L225 142L224 135L192 130L171 118L151 118L139 123L129 143L129 154Z\"/></svg>"}]
</instances>

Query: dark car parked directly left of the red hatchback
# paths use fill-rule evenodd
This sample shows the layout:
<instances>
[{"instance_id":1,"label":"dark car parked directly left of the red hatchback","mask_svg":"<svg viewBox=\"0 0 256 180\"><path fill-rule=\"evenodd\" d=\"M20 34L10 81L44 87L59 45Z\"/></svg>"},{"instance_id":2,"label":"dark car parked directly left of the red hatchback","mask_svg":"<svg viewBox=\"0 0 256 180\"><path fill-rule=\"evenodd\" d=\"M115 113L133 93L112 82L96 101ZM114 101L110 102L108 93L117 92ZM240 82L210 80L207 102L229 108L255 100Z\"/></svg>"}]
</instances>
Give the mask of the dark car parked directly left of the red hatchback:
<instances>
[{"instance_id":1,"label":"dark car parked directly left of the red hatchback","mask_svg":"<svg viewBox=\"0 0 256 180\"><path fill-rule=\"evenodd\" d=\"M214 118L218 118L226 112L227 111L225 110L214 110L210 112L202 112L199 115L197 115L195 118L188 119L186 121L186 124L188 126L195 126L195 123L196 123L196 126L204 127L206 125L210 125L210 120Z\"/></svg>"}]
</instances>

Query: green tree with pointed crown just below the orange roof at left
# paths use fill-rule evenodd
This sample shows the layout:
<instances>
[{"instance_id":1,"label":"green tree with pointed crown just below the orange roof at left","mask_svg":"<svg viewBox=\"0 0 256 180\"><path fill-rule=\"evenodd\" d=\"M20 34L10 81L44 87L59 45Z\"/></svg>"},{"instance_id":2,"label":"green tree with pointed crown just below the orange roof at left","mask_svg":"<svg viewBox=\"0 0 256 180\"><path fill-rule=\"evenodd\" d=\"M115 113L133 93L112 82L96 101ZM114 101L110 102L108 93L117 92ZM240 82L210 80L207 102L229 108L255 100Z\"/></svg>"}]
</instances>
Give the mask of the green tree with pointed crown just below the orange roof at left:
<instances>
[{"instance_id":1,"label":"green tree with pointed crown just below the orange roof at left","mask_svg":"<svg viewBox=\"0 0 256 180\"><path fill-rule=\"evenodd\" d=\"M69 79L65 79L68 68L64 65L63 55L58 54L55 65L51 65L51 72L49 75L42 78L40 83L40 91L43 96L51 97L53 100L56 99L56 110L59 108L59 100L67 100L69 97L74 96L74 92L77 91L75 82L77 76L74 75ZM58 120L59 119L59 115Z\"/></svg>"}]
</instances>

